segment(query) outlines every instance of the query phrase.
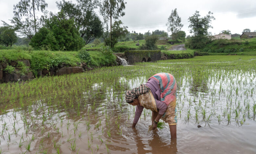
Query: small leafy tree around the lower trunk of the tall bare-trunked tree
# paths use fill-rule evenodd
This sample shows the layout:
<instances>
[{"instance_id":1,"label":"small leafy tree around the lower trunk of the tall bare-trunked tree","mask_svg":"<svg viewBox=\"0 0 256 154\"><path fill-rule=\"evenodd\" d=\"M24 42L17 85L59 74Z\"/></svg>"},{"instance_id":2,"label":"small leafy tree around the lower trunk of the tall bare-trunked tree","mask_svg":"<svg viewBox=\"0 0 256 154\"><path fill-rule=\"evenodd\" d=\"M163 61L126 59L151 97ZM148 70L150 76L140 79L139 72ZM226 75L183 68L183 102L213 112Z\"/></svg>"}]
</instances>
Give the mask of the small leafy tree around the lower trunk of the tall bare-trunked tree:
<instances>
[{"instance_id":1,"label":"small leafy tree around the lower trunk of the tall bare-trunked tree","mask_svg":"<svg viewBox=\"0 0 256 154\"><path fill-rule=\"evenodd\" d=\"M115 45L117 44L117 40L121 37L126 36L126 34L128 33L127 27L123 26L121 27L123 23L118 20L115 21L113 24L113 29L112 32L110 33L110 35L112 35L112 39L110 37L107 37L104 41L105 41L105 45L106 46L110 46L111 48L114 48Z\"/></svg>"}]
</instances>

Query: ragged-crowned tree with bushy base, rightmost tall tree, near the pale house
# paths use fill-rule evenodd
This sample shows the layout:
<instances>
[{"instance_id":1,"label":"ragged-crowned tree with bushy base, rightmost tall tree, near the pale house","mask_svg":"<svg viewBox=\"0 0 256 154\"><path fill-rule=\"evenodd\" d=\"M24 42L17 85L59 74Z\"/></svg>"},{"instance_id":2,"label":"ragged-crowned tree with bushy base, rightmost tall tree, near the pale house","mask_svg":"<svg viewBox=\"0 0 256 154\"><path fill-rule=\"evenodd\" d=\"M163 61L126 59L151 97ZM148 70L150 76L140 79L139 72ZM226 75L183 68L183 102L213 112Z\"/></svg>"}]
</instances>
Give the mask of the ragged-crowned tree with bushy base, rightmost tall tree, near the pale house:
<instances>
[{"instance_id":1,"label":"ragged-crowned tree with bushy base, rightmost tall tree, near the pale house","mask_svg":"<svg viewBox=\"0 0 256 154\"><path fill-rule=\"evenodd\" d=\"M203 48L210 40L208 35L209 28L213 28L210 23L212 20L215 20L214 16L212 16L212 12L208 12L205 17L200 17L199 11L196 11L191 17L188 18L190 22L189 28L190 33L193 33L194 36L190 37L190 39L185 43L185 46L188 48Z\"/></svg>"}]
</instances>

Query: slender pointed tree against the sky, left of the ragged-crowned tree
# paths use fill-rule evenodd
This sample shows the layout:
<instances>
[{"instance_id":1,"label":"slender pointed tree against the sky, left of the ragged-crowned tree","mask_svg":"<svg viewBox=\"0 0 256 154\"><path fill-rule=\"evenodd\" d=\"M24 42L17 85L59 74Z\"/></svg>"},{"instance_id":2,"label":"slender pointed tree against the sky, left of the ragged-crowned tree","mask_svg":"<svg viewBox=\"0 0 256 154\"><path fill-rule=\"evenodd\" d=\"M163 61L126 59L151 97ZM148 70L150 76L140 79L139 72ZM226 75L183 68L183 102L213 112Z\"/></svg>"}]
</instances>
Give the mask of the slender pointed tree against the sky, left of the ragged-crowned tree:
<instances>
[{"instance_id":1,"label":"slender pointed tree against the sky, left of the ragged-crowned tree","mask_svg":"<svg viewBox=\"0 0 256 154\"><path fill-rule=\"evenodd\" d=\"M171 34L172 39L175 39L173 33L177 33L183 27L183 25L181 24L181 17L179 17L176 8L172 10L172 13L168 18L168 22L166 23L166 26L167 26L167 31L172 33Z\"/></svg>"}]
</instances>

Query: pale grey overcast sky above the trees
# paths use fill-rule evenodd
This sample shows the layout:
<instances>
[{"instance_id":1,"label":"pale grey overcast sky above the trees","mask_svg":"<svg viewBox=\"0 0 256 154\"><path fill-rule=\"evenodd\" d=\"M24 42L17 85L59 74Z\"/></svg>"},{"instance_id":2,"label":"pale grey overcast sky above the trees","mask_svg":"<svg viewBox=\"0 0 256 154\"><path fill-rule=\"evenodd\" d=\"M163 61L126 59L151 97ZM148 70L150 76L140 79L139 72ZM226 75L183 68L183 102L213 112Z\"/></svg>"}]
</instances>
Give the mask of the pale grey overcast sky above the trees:
<instances>
[{"instance_id":1,"label":"pale grey overcast sky above the trees","mask_svg":"<svg viewBox=\"0 0 256 154\"><path fill-rule=\"evenodd\" d=\"M10 23L13 17L13 5L20 0L0 0L0 20ZM45 0L48 3L48 11L57 13L55 0ZM75 0L73 0L75 2ZM212 21L212 34L218 34L222 30L229 29L232 34L241 34L243 29L256 30L256 2L255 0L126 0L125 15L120 18L124 26L128 26L130 32L145 33L148 30L159 29L167 31L165 24L171 11L177 8L184 25L181 30L189 33L188 17L196 10L201 16L206 16L208 11L213 12L216 20ZM96 13L99 15L98 9ZM103 18L99 15L101 20ZM1 23L2 26L2 23ZM170 34L170 33L169 33Z\"/></svg>"}]
</instances>

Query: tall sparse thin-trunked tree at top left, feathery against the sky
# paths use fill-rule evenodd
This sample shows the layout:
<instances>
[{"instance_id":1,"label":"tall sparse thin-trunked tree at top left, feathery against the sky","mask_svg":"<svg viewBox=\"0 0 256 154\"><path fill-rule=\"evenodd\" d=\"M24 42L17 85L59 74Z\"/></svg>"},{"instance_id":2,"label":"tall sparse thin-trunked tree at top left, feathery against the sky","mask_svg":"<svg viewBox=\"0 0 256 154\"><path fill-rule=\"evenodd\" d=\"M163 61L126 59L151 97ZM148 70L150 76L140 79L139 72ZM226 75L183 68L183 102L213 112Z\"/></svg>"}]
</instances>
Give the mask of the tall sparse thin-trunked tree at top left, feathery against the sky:
<instances>
[{"instance_id":1,"label":"tall sparse thin-trunked tree at top left, feathery against the sky","mask_svg":"<svg viewBox=\"0 0 256 154\"><path fill-rule=\"evenodd\" d=\"M38 29L36 24L38 20L38 17L36 16L36 10L43 12L47 7L48 4L45 3L45 0L20 0L18 4L14 5L13 13L15 17L18 18L33 18L31 20L33 20L34 33L36 33L36 29Z\"/></svg>"}]
</instances>

